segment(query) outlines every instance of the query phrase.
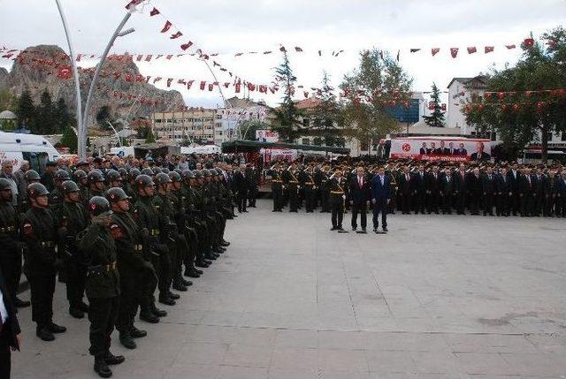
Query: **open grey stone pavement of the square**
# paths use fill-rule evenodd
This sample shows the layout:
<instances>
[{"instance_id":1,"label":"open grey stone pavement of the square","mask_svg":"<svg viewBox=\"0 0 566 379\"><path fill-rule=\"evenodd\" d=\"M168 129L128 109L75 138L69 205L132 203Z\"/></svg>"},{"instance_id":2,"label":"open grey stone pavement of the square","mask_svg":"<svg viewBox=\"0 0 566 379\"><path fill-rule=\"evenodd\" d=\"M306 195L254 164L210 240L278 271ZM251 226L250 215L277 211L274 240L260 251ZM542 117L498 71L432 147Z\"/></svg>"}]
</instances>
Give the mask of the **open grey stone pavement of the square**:
<instances>
[{"instance_id":1,"label":"open grey stone pavement of the square","mask_svg":"<svg viewBox=\"0 0 566 379\"><path fill-rule=\"evenodd\" d=\"M387 235L337 234L328 214L258 206L163 322L137 323L138 349L113 336L114 377L566 377L566 220L394 215ZM13 377L96 377L64 299L57 284L54 343L20 311Z\"/></svg>"}]
</instances>

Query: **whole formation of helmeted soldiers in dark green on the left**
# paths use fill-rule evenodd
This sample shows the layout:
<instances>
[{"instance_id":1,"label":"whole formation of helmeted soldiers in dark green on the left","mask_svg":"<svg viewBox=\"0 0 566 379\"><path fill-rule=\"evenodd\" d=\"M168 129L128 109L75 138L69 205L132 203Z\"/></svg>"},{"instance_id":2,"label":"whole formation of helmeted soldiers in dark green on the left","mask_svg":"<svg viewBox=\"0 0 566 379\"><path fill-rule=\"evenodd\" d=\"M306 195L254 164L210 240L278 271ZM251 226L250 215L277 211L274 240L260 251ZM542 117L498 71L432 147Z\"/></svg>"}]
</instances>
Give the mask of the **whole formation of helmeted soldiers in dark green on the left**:
<instances>
[{"instance_id":1,"label":"whole formation of helmeted soldiers in dark green on the left","mask_svg":"<svg viewBox=\"0 0 566 379\"><path fill-rule=\"evenodd\" d=\"M110 351L114 328L134 349L147 335L134 325L138 311L141 320L159 322L167 313L157 302L174 306L192 284L185 277L200 277L229 246L233 194L224 171L144 171L78 170L70 178L61 170L52 191L27 171L21 212L12 205L11 183L0 178L0 269L8 292L15 300L23 269L36 335L53 341L66 331L53 321L58 274L69 314L88 314L89 352L102 377L124 361Z\"/></svg>"}]
</instances>

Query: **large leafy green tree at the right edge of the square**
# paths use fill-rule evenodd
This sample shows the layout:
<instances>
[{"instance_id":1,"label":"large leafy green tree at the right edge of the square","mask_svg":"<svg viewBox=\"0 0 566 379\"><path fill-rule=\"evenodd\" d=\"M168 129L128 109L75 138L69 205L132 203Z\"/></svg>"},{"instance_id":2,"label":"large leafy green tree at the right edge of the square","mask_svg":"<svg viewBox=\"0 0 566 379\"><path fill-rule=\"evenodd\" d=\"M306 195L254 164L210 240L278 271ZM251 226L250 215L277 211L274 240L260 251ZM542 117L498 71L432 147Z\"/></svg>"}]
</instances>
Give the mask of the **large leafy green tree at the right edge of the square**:
<instances>
[{"instance_id":1,"label":"large leafy green tree at the right edge of the square","mask_svg":"<svg viewBox=\"0 0 566 379\"><path fill-rule=\"evenodd\" d=\"M496 96L474 96L463 109L478 132L498 133L506 154L516 158L530 141L538 140L542 162L547 163L548 134L566 132L566 98L562 91L551 91L566 87L566 30L557 27L542 40L546 43L523 43L514 67L491 72L486 91ZM530 90L548 91L525 92Z\"/></svg>"}]
</instances>

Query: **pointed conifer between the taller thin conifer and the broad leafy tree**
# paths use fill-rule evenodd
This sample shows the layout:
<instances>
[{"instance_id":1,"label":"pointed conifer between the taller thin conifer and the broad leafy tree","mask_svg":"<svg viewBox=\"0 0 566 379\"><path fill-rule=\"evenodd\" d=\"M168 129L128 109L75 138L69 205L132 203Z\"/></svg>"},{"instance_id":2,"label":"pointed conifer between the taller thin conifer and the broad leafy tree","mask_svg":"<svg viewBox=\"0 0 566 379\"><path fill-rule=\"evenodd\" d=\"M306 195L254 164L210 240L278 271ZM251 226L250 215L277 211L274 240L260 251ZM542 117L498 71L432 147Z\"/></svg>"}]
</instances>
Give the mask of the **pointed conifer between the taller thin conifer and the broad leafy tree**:
<instances>
[{"instance_id":1,"label":"pointed conifer between the taller thin conifer and the broad leafy tree","mask_svg":"<svg viewBox=\"0 0 566 379\"><path fill-rule=\"evenodd\" d=\"M313 118L313 128L310 135L316 135L325 146L344 146L342 137L344 126L344 114L340 103L336 101L333 88L329 85L329 78L323 72L322 95L317 98L317 105L310 115Z\"/></svg>"}]
</instances>

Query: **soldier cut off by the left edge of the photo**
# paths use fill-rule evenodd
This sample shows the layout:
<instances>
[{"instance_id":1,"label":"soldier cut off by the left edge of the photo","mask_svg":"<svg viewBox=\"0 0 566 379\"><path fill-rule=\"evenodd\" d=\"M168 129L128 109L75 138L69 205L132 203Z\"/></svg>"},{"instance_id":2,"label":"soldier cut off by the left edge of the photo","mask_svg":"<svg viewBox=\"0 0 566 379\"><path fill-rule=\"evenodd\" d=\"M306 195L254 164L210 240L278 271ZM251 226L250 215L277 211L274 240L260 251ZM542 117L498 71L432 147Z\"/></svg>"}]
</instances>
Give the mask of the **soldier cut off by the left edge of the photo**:
<instances>
[{"instance_id":1,"label":"soldier cut off by the left edge of the photo","mask_svg":"<svg viewBox=\"0 0 566 379\"><path fill-rule=\"evenodd\" d=\"M17 304L21 276L21 244L19 243L18 214L11 204L11 183L0 178L0 269L14 304Z\"/></svg>"}]
</instances>

